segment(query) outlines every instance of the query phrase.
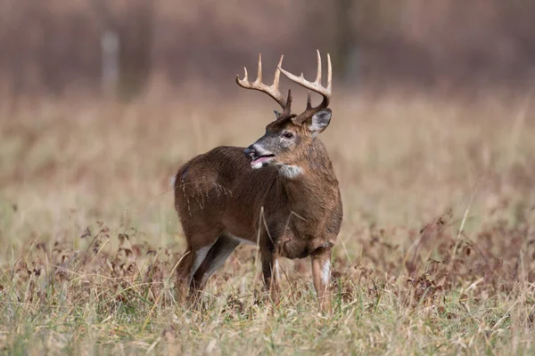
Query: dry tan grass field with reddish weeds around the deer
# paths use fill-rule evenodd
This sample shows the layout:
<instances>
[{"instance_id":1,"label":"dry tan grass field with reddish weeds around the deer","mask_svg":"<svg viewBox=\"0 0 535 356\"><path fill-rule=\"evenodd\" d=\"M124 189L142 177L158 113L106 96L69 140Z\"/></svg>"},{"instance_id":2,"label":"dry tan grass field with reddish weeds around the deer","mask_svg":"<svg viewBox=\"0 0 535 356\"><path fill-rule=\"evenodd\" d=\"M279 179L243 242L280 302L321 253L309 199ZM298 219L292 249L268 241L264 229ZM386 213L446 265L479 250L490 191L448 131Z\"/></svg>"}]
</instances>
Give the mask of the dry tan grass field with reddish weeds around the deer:
<instances>
[{"instance_id":1,"label":"dry tan grass field with reddish weeds around the deer","mask_svg":"<svg viewBox=\"0 0 535 356\"><path fill-rule=\"evenodd\" d=\"M530 95L336 93L328 317L306 261L283 261L282 301L266 303L254 247L210 279L200 310L175 302L185 241L169 178L254 142L275 109L202 95L0 105L2 353L535 352Z\"/></svg>"}]
</instances>

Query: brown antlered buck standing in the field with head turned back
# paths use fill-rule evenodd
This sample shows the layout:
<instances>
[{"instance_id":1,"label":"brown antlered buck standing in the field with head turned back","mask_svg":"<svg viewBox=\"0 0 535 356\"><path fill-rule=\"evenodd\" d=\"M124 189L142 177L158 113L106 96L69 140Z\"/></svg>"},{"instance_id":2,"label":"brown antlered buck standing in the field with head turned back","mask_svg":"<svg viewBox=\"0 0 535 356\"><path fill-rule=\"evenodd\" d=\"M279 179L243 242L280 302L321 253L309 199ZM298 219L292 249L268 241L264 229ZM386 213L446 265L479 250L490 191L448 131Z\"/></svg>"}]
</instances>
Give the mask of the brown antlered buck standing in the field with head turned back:
<instances>
[{"instance_id":1,"label":"brown antlered buck standing in the field with head turned back","mask_svg":"<svg viewBox=\"0 0 535 356\"><path fill-rule=\"evenodd\" d=\"M317 51L314 82L276 67L272 85L262 83L262 58L254 82L236 75L244 89L268 94L282 108L266 133L249 147L219 146L181 166L174 176L175 206L186 240L177 263L177 295L202 292L206 281L240 244L259 248L264 286L273 300L279 295L278 258L310 257L319 308L331 310L331 250L342 224L342 198L333 164L317 135L329 125L332 93L331 57L327 85L321 84ZM292 113L292 91L278 89L283 73L309 89L307 107ZM323 97L313 107L311 92ZM189 288L189 292L188 292Z\"/></svg>"}]
</instances>

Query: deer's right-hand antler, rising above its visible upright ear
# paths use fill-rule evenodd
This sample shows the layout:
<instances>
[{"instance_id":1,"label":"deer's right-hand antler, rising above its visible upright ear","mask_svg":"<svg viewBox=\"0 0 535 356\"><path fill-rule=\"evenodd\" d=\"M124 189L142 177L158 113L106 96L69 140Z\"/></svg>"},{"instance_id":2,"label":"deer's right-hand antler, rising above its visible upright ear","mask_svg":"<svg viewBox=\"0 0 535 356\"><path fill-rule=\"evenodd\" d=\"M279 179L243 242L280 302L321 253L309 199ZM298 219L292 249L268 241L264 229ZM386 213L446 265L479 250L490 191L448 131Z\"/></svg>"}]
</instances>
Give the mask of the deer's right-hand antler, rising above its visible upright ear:
<instances>
[{"instance_id":1,"label":"deer's right-hand antler, rising above its visible upright ear","mask_svg":"<svg viewBox=\"0 0 535 356\"><path fill-rule=\"evenodd\" d=\"M282 58L281 58L281 62L277 66L277 70L282 71L284 76L292 80L293 83L304 86L305 88L311 90L312 92L319 93L323 96L323 101L321 101L321 103L317 105L317 107L312 108L311 95L309 92L309 96L307 99L307 109L305 109L305 111L303 111L298 117L295 117L293 119L293 122L298 123L298 124L304 123L314 114L316 114L318 111L326 109L329 106L329 102L331 101L331 92L333 88L333 68L331 66L331 56L327 53L327 86L325 87L321 85L321 55L319 54L318 50L316 50L316 52L317 52L317 73L316 73L316 80L313 83L306 80L302 73L300 77L297 77L293 75L292 73L282 69L281 67Z\"/></svg>"}]
</instances>

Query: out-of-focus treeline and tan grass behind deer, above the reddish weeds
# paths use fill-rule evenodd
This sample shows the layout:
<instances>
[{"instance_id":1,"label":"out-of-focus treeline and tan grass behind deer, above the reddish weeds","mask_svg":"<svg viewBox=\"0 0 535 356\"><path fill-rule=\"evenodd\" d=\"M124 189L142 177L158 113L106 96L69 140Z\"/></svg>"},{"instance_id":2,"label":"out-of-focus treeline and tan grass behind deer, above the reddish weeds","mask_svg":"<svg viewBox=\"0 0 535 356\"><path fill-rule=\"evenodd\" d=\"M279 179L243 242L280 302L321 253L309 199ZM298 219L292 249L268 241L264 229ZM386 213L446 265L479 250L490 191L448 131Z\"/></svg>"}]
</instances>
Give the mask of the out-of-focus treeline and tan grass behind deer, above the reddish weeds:
<instances>
[{"instance_id":1,"label":"out-of-focus treeline and tan grass behind deer, above the reddish weeds","mask_svg":"<svg viewBox=\"0 0 535 356\"><path fill-rule=\"evenodd\" d=\"M169 177L251 144L276 109L236 73L254 78L261 52L269 83L284 53L312 78L316 49L324 69L333 58L322 140L344 251L445 211L472 231L531 223L534 17L533 0L0 1L0 241L70 240L101 221L182 244ZM408 247L413 232L385 239Z\"/></svg>"}]
</instances>

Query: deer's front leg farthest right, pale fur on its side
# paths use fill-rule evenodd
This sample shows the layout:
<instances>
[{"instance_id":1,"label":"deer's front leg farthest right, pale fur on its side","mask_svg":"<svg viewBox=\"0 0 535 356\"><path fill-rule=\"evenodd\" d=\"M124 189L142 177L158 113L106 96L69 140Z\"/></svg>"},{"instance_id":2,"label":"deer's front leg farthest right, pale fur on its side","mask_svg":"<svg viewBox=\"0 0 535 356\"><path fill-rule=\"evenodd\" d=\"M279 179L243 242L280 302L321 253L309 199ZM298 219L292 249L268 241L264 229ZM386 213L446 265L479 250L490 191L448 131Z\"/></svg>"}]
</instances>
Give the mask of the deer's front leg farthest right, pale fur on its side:
<instances>
[{"instance_id":1,"label":"deer's front leg farthest right, pale fur on its side","mask_svg":"<svg viewBox=\"0 0 535 356\"><path fill-rule=\"evenodd\" d=\"M312 260L312 279L314 280L319 308L322 312L330 313L331 248L318 248L310 255L310 259Z\"/></svg>"}]
</instances>

